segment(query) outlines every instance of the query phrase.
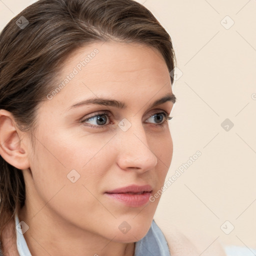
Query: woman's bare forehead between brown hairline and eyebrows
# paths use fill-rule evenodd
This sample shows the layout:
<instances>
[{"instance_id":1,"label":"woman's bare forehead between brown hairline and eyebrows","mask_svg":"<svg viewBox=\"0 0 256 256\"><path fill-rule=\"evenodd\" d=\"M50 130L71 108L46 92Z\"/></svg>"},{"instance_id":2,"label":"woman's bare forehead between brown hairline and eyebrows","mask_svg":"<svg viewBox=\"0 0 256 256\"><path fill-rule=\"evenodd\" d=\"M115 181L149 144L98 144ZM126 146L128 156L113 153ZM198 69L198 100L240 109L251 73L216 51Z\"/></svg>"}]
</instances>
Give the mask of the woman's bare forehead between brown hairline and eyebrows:
<instances>
[{"instance_id":1,"label":"woman's bare forehead between brown hairline and eyebrows","mask_svg":"<svg viewBox=\"0 0 256 256\"><path fill-rule=\"evenodd\" d=\"M92 96L136 100L151 98L159 90L161 95L171 92L161 53L145 44L124 42L97 42L74 50L63 62L54 88L54 101L69 105Z\"/></svg>"}]
</instances>

